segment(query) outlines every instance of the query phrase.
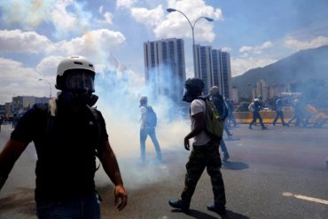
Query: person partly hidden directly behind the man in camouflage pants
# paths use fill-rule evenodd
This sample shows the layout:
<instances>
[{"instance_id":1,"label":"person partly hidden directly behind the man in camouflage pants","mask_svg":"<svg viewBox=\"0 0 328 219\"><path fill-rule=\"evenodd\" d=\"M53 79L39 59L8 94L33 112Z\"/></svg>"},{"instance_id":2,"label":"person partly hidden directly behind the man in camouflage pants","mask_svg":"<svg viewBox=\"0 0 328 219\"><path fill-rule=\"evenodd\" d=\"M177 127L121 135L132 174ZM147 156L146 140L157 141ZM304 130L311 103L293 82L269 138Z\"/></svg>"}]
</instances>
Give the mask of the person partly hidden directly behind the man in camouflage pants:
<instances>
[{"instance_id":1,"label":"person partly hidden directly behind the man in camouflage pants","mask_svg":"<svg viewBox=\"0 0 328 219\"><path fill-rule=\"evenodd\" d=\"M221 119L223 120L225 132L227 133L228 137L232 136L230 130L228 129L226 123L224 122L225 119L228 117L229 109L224 102L223 96L220 94L219 88L217 86L213 86L209 90L209 96L211 97L213 104L215 105L218 113L221 116ZM230 158L230 155L228 153L228 149L227 146L225 145L223 137L221 138L220 146L221 146L221 150L223 151L223 161L227 161Z\"/></svg>"}]
</instances>

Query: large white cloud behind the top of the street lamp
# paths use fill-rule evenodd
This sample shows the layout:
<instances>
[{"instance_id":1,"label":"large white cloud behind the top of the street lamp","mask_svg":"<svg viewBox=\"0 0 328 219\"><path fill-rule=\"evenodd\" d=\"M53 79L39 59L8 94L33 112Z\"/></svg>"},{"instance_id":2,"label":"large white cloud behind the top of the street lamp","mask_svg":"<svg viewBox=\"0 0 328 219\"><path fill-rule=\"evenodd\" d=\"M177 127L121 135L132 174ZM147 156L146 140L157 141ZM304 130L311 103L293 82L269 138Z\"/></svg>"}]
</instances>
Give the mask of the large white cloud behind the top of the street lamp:
<instances>
[{"instance_id":1,"label":"large white cloud behind the top of the street lamp","mask_svg":"<svg viewBox=\"0 0 328 219\"><path fill-rule=\"evenodd\" d=\"M168 0L168 8L184 12L192 24L201 16L214 20L223 18L221 9L207 5L204 0ZM131 7L130 12L137 22L151 27L158 38L192 37L190 24L184 15L179 12L164 15L161 4L154 9ZM214 23L200 19L195 26L195 40L213 42L215 40Z\"/></svg>"}]
</instances>

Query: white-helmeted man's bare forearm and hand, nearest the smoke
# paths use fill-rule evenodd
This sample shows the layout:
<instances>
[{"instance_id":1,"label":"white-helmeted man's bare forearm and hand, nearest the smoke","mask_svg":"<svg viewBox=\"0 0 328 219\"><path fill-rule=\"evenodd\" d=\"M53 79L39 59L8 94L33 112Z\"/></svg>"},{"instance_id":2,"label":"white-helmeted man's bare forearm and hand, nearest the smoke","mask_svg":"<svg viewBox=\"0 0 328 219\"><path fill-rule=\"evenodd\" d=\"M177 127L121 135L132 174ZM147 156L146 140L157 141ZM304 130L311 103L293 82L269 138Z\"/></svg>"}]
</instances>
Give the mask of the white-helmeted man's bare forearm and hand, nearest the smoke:
<instances>
[{"instance_id":1,"label":"white-helmeted man's bare forearm and hand, nearest the smoke","mask_svg":"<svg viewBox=\"0 0 328 219\"><path fill-rule=\"evenodd\" d=\"M102 150L99 153L99 160L103 165L105 173L115 185L115 206L121 211L121 209L128 204L128 194L121 179L121 172L115 154L113 153L112 147L109 145L108 141L105 141L102 145ZM119 201L120 199L121 201Z\"/></svg>"}]
</instances>

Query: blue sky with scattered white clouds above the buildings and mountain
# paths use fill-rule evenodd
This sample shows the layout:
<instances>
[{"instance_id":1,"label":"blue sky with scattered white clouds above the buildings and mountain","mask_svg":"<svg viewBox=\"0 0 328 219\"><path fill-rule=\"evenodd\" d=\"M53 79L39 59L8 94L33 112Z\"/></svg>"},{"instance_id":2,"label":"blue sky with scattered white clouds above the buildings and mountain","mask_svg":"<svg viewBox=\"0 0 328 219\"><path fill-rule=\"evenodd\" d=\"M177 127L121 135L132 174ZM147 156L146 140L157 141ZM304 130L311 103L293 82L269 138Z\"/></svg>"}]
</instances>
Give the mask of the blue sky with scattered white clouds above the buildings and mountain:
<instances>
[{"instance_id":1,"label":"blue sky with scattered white clouds above the buildings and mountain","mask_svg":"<svg viewBox=\"0 0 328 219\"><path fill-rule=\"evenodd\" d=\"M82 55L144 85L143 43L184 38L187 77L195 43L229 51L232 76L328 44L327 0L0 0L0 104L49 96L60 59ZM39 81L39 79L43 79ZM51 89L50 89L51 88Z\"/></svg>"}]
</instances>

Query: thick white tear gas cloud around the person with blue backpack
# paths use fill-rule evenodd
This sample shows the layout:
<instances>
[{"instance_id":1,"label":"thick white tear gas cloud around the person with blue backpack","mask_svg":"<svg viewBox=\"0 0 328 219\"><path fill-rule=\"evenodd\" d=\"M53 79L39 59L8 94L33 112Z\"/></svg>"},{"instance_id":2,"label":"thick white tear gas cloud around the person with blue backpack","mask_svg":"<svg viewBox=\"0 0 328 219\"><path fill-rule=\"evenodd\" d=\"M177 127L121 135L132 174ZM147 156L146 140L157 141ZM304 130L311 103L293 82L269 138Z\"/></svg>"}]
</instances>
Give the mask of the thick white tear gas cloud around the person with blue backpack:
<instances>
[{"instance_id":1,"label":"thick white tear gas cloud around the person with blue backpack","mask_svg":"<svg viewBox=\"0 0 328 219\"><path fill-rule=\"evenodd\" d=\"M105 118L109 142L119 161L124 183L133 188L159 182L170 175L165 165L155 165L156 152L150 137L146 140L147 163L141 165L138 160L141 117L139 99L147 96L148 105L157 113L156 135L164 160L166 154L175 153L176 156L184 150L184 136L190 131L190 123L185 116L173 116L172 108L175 104L165 96L152 98L151 89L138 83L141 77L144 75L128 70L119 72L104 68L95 82L96 94L99 96L97 106ZM108 182L105 173L101 171L98 183Z\"/></svg>"}]
</instances>

